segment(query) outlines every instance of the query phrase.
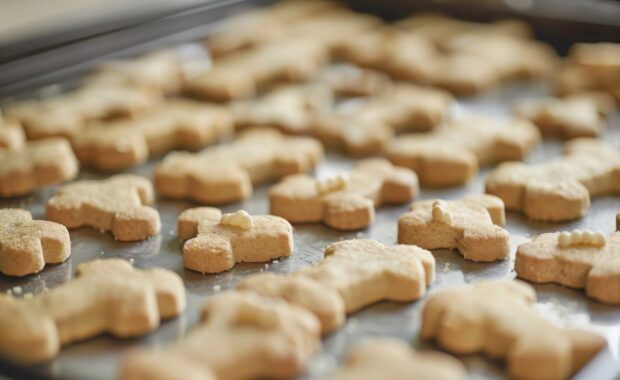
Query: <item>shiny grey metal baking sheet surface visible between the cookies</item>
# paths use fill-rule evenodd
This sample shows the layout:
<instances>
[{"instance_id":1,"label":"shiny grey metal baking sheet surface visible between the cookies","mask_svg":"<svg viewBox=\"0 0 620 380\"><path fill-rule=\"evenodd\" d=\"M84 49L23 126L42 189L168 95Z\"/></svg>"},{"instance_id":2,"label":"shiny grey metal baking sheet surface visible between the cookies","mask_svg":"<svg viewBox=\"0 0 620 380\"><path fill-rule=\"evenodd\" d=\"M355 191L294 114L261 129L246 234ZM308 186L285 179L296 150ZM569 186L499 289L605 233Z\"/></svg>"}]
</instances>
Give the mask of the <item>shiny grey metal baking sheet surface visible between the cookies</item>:
<instances>
[{"instance_id":1,"label":"shiny grey metal baking sheet surface visible between the cookies","mask_svg":"<svg viewBox=\"0 0 620 380\"><path fill-rule=\"evenodd\" d=\"M516 99L528 96L544 96L544 85L510 85L483 96L459 101L452 109L454 114L486 112L509 114L510 105ZM618 115L612 119L609 130L602 137L616 148L620 148ZM547 140L538 146L528 162L543 162L561 154L560 141ZM131 170L131 172L152 178L153 167L158 159ZM321 163L316 174L319 178L348 170L354 163L340 154L330 152ZM489 168L467 186L448 190L422 189L418 199L458 199L466 194L484 191L484 177ZM82 171L79 178L105 178L105 175ZM267 191L269 184L255 189L252 197L244 202L223 207L224 212L245 209L251 214L268 213ZM45 202L58 186L47 188L31 196L0 201L0 207L21 207L30 210L37 219L44 218ZM325 245L343 239L373 238L386 244L394 244L397 236L397 219L408 210L408 205L383 207L378 210L375 223L360 232L343 233L333 231L320 224L295 227L295 252L292 257L274 260L264 264L240 264L233 270L218 275L202 275L183 268L181 245L176 236L176 218L179 213L196 204L182 201L158 199L155 207L162 220L160 235L138 243L116 242L111 234L101 234L90 228L71 231L72 255L65 263L48 265L40 274L26 278L11 278L0 275L0 291L11 291L23 296L38 293L46 288L58 286L71 279L75 267L96 258L121 257L133 261L136 267L163 267L177 272L183 278L187 289L188 308L179 318L168 321L156 332L141 339L119 340L101 336L64 348L52 362L36 367L18 367L11 363L0 363L0 373L5 372L18 378L54 379L112 379L117 375L117 362L124 352L137 346L158 346L172 342L187 334L198 322L199 310L205 299L218 291L231 289L237 281L257 272L269 271L287 273L299 267L311 265L322 259ZM620 197L605 197L593 201L590 212L581 220L563 224L535 223L527 221L516 213L507 214L506 228L511 235L511 259L496 263L473 263L463 260L454 251L438 250L437 279L429 293L439 289L474 283L482 280L511 279L516 246L532 236L543 232L589 228L610 233L615 229L615 214L620 210ZM597 357L578 378L613 379L620 367L620 307L611 307L588 300L581 291L558 285L537 285L537 307L549 318L567 326L579 326L604 334L609 348ZM383 302L368 307L347 319L339 331L324 339L322 351L311 361L308 372L302 379L314 379L329 373L339 365L343 355L355 345L378 336L394 336L406 339L417 347L422 301L411 304ZM0 337L1 338L1 337ZM473 355L462 358L473 379L502 379L504 369L500 363ZM241 363L240 363L241 364Z\"/></svg>"}]
</instances>

